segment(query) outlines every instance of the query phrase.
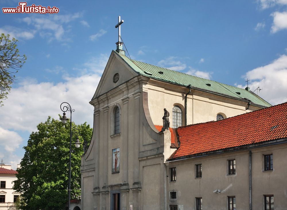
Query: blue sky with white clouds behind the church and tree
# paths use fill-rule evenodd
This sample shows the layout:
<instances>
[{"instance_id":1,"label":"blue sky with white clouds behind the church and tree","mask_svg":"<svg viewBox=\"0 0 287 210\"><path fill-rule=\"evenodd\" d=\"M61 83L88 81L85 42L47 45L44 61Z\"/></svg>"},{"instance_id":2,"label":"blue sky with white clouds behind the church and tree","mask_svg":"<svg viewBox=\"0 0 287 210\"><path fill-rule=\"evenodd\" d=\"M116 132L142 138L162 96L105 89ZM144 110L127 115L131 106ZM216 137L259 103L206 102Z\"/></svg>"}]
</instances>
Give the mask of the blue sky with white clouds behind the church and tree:
<instances>
[{"instance_id":1,"label":"blue sky with white clouds behind the church and tree","mask_svg":"<svg viewBox=\"0 0 287 210\"><path fill-rule=\"evenodd\" d=\"M1 0L1 8L19 1ZM118 16L131 58L221 83L263 89L287 101L287 0L27 1L58 14L3 14L0 33L17 38L27 62L0 107L0 159L15 169L36 125L61 114L93 124L88 103L116 49Z\"/></svg>"}]
</instances>

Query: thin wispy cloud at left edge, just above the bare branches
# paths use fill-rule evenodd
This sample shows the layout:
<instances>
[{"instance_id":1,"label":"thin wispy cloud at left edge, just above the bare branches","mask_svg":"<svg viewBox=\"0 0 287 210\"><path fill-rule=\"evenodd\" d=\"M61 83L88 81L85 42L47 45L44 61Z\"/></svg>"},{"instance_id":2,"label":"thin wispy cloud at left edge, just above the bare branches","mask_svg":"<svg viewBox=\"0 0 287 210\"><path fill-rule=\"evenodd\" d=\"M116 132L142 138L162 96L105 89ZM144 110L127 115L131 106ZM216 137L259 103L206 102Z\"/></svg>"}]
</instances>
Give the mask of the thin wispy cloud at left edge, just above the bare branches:
<instances>
[{"instance_id":1,"label":"thin wispy cloud at left edge, just above the bare branches","mask_svg":"<svg viewBox=\"0 0 287 210\"><path fill-rule=\"evenodd\" d=\"M32 39L34 38L35 30L26 30L20 29L14 26L4 26L0 28L0 33L4 33L5 35L9 34L10 37L14 37L15 39Z\"/></svg>"}]
</instances>

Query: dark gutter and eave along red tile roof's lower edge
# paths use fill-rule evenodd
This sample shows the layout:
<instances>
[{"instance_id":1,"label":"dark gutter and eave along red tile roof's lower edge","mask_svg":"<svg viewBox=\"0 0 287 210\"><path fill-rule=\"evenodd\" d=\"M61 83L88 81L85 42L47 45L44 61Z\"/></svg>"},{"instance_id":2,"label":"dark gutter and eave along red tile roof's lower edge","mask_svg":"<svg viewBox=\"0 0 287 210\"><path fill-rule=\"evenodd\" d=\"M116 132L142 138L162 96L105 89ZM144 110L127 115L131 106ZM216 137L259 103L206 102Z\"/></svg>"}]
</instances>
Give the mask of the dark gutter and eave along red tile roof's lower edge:
<instances>
[{"instance_id":1,"label":"dark gutter and eave along red tile roof's lower edge","mask_svg":"<svg viewBox=\"0 0 287 210\"><path fill-rule=\"evenodd\" d=\"M165 163L194 159L194 158L205 157L205 156L215 155L215 154L223 154L223 153L234 152L234 151L250 150L250 149L254 149L254 148L260 148L260 147L264 147L264 146L273 146L273 145L284 144L284 143L287 143L287 138L279 139L279 140L271 140L268 142L261 142L261 143L257 143L257 144L243 145L243 146L239 146L239 147L232 147L232 148L227 148L227 149L223 149L223 150L216 150L216 151L211 151L211 152L202 152L202 153L178 157L178 158L171 158L171 159L168 159Z\"/></svg>"}]
</instances>

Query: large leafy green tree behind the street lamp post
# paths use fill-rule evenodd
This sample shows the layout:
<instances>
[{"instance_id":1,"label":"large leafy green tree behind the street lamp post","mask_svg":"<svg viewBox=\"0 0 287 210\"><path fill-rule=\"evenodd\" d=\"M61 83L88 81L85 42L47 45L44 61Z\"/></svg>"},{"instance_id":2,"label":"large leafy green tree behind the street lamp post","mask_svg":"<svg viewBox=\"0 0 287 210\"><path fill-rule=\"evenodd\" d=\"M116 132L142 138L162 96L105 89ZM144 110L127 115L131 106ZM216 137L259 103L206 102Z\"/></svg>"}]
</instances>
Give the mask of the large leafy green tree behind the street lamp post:
<instances>
[{"instance_id":1,"label":"large leafy green tree behind the street lamp post","mask_svg":"<svg viewBox=\"0 0 287 210\"><path fill-rule=\"evenodd\" d=\"M22 193L19 201L22 210L55 209L64 207L68 197L69 179L69 132L70 123L48 117L40 123L37 132L32 132L28 140L21 168L17 169L17 180L13 189ZM81 132L79 140L90 140L92 128L87 123L72 124ZM81 155L82 146L75 148L75 135L72 139L71 155L71 199L81 194Z\"/></svg>"}]
</instances>

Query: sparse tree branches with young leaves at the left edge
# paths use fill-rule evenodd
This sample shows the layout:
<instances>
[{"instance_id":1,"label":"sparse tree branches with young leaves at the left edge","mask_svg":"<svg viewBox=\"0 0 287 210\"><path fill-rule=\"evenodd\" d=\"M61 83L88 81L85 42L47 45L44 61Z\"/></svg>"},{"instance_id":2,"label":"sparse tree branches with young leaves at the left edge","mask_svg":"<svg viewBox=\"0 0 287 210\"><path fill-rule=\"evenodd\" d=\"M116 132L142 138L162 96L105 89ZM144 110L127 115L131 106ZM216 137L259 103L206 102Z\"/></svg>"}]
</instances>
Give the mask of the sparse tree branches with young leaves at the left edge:
<instances>
[{"instance_id":1,"label":"sparse tree branches with young leaves at the left edge","mask_svg":"<svg viewBox=\"0 0 287 210\"><path fill-rule=\"evenodd\" d=\"M0 106L3 106L2 100L7 98L11 85L15 83L15 74L27 59L25 55L21 56L16 48L18 40L9 37L9 34L0 35Z\"/></svg>"}]
</instances>

